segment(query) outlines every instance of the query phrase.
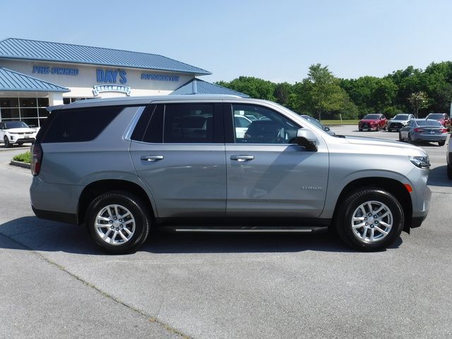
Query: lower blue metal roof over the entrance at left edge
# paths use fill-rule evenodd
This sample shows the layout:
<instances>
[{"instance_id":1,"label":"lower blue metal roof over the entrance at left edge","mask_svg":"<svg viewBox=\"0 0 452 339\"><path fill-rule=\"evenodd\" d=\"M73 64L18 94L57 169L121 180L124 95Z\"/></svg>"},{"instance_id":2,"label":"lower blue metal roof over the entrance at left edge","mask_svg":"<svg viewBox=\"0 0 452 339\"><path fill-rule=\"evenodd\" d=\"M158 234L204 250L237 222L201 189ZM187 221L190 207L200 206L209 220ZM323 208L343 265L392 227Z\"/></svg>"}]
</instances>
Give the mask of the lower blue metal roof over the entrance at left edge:
<instances>
[{"instance_id":1,"label":"lower blue metal roof over the entrance at left edge","mask_svg":"<svg viewBox=\"0 0 452 339\"><path fill-rule=\"evenodd\" d=\"M69 92L68 88L48 83L32 76L0 68L0 91L13 90L24 92Z\"/></svg>"}]
</instances>

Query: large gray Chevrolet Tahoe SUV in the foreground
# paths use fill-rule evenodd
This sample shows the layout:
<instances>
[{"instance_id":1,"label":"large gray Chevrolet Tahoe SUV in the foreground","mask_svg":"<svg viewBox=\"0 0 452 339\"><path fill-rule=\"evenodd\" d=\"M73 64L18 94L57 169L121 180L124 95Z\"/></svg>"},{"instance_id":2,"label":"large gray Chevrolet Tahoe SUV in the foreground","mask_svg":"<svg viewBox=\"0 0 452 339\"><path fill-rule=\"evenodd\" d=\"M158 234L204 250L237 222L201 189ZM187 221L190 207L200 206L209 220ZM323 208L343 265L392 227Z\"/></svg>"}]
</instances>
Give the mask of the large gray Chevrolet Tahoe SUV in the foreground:
<instances>
[{"instance_id":1,"label":"large gray Chevrolet Tahoe SUV in the foreground","mask_svg":"<svg viewBox=\"0 0 452 339\"><path fill-rule=\"evenodd\" d=\"M110 253L156 228L320 232L355 249L390 245L429 210L421 148L331 136L274 102L131 97L50 107L32 146L32 208L84 224ZM246 131L237 115L253 115Z\"/></svg>"}]
</instances>

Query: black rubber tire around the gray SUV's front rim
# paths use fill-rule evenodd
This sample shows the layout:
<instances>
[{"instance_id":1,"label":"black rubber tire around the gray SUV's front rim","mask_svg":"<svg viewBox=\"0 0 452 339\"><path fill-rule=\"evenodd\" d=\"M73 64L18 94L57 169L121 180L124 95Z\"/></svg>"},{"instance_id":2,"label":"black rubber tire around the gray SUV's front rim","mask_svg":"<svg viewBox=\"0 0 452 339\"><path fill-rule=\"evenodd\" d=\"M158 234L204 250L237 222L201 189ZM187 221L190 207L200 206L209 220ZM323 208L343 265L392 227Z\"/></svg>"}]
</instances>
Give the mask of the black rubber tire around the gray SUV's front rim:
<instances>
[{"instance_id":1,"label":"black rubber tire around the gray SUV's front rim","mask_svg":"<svg viewBox=\"0 0 452 339\"><path fill-rule=\"evenodd\" d=\"M364 228L364 230L362 230L362 234L364 234L364 232L366 232L366 235L369 234L371 227L374 229L371 231L371 234L377 233L376 237L382 237L381 239L377 238L374 242L370 241L370 234L369 240L366 239L366 235L364 235L364 239L358 237L355 232L361 232L360 228L357 228L354 231L352 227L352 217L354 213L357 213L359 206L362 206L362 204L365 204L368 201L372 201L374 206L376 206L375 208L378 208L378 204L386 206L386 208L391 211L392 215L391 220L393 225L391 229L388 230L386 235L377 231L379 230L377 227L383 227L381 226L382 224L372 224L365 226L366 228L364 228L364 226L360 227ZM367 215L365 216L367 217ZM372 217L374 216L372 215ZM369 217L369 222L372 217ZM390 217L386 216L384 218ZM374 219L372 218L372 222L374 222L373 220ZM352 247L352 249L358 249L360 251L377 251L380 249L386 249L388 245L392 244L399 237L403 230L404 222L405 216L403 214L403 208L400 206L400 203L396 197L383 189L369 187L362 188L359 191L354 191L347 195L345 201L339 206L336 218L336 229L338 230L338 234L343 242Z\"/></svg>"}]
</instances>

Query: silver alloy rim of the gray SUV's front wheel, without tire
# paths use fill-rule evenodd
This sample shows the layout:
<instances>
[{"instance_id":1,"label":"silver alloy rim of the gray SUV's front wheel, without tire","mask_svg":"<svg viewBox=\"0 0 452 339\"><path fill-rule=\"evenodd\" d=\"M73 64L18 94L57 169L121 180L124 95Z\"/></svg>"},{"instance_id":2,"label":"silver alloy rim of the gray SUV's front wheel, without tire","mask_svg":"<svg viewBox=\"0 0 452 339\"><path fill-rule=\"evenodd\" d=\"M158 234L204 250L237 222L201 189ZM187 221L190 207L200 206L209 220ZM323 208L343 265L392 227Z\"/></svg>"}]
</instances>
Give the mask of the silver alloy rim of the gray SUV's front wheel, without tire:
<instances>
[{"instance_id":1,"label":"silver alloy rim of the gray SUV's front wheel, without tire","mask_svg":"<svg viewBox=\"0 0 452 339\"><path fill-rule=\"evenodd\" d=\"M389 234L393 222L388 206L380 201L366 201L353 212L352 231L362 242L379 242Z\"/></svg>"}]
</instances>

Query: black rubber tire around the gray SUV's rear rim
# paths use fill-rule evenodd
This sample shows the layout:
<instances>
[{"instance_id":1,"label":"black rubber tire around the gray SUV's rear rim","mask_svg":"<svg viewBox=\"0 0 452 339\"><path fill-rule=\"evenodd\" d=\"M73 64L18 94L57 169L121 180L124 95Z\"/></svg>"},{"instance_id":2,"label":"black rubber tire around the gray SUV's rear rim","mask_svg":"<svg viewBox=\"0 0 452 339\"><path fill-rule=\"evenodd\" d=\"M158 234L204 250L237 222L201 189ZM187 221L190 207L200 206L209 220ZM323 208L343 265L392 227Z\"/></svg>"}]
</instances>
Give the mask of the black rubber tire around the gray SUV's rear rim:
<instances>
[{"instance_id":1,"label":"black rubber tire around the gray SUV's rear rim","mask_svg":"<svg viewBox=\"0 0 452 339\"><path fill-rule=\"evenodd\" d=\"M95 226L97 215L102 210L106 210L107 206L111 205L120 206L118 208L119 213L125 214L125 211L128 210L130 212L130 217L126 218L130 219L126 220L126 218L124 218L124 226L123 224L120 225L121 230L119 230L119 225L116 225L116 223L119 223L120 219L115 219L114 224L105 221L105 225L112 225L110 226L112 227L112 230L109 230L110 227L102 227L102 229L98 231ZM110 218L114 218L112 216L114 213L109 214ZM133 222L130 221L131 218L133 218ZM122 220L120 221L122 222ZM129 226L126 226L128 222ZM110 191L95 198L95 200L90 203L90 206L88 207L86 218L86 226L91 238L98 246L109 254L127 254L136 251L148 238L150 222L150 206L147 206L141 198L138 198L133 194L129 194L126 191ZM134 226L134 229L131 228L132 225ZM121 244L110 244L106 240L102 239L99 234L102 230L105 230L105 234L107 234L107 232L111 234L111 232L115 232L115 230L122 232L126 227L129 227L129 230L133 230L133 234L130 235L130 238L127 239L126 242ZM109 241L124 241L124 239L121 240L121 234L119 234L119 232L114 233L115 240L109 239ZM126 232L124 232L124 234L129 236Z\"/></svg>"}]
</instances>

